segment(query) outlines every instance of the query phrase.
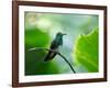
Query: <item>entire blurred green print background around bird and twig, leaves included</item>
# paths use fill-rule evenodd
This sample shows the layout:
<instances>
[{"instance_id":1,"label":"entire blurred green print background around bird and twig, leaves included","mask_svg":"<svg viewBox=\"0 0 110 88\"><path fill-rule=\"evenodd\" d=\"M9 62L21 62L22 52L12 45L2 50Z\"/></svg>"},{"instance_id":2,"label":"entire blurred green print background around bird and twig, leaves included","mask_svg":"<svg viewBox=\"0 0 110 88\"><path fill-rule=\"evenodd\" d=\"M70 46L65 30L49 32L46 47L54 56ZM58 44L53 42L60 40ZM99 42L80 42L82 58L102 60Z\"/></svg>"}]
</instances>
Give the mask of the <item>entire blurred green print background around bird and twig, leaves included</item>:
<instances>
[{"instance_id":1,"label":"entire blurred green print background around bird and twig, leaves included","mask_svg":"<svg viewBox=\"0 0 110 88\"><path fill-rule=\"evenodd\" d=\"M44 63L46 51L29 51L50 47L57 32L66 33L61 53L77 73L98 72L98 15L25 12L24 44L25 75L52 75L73 73L58 55Z\"/></svg>"}]
</instances>

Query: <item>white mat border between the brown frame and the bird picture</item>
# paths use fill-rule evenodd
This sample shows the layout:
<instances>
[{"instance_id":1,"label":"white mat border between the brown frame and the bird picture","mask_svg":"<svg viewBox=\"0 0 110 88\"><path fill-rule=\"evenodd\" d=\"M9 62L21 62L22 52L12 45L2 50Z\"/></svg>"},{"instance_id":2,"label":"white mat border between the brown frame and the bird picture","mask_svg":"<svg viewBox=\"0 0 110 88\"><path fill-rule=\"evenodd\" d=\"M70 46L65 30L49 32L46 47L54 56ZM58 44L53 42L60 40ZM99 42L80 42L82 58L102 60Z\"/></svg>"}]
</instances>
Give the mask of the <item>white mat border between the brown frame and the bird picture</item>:
<instances>
[{"instance_id":1,"label":"white mat border between the brown frame and the bird picture","mask_svg":"<svg viewBox=\"0 0 110 88\"><path fill-rule=\"evenodd\" d=\"M54 12L54 13L80 13L99 15L99 73L69 74L69 75L37 75L24 76L24 11ZM103 11L86 9L66 9L48 7L19 6L19 82L90 79L103 78Z\"/></svg>"}]
</instances>

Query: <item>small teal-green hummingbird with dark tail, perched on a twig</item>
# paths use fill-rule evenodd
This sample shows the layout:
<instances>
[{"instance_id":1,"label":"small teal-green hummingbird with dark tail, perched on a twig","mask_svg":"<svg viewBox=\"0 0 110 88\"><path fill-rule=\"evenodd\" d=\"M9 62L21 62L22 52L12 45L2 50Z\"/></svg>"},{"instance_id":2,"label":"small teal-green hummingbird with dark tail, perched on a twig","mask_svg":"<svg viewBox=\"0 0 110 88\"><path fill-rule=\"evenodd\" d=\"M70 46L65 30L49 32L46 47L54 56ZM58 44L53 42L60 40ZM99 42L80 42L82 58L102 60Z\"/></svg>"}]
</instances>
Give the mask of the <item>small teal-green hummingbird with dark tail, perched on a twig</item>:
<instances>
[{"instance_id":1,"label":"small teal-green hummingbird with dark tail, perched on a twig","mask_svg":"<svg viewBox=\"0 0 110 88\"><path fill-rule=\"evenodd\" d=\"M58 52L58 48L59 46L63 45L63 35L66 35L62 32L58 32L55 36L55 38L53 40L50 48L55 51L55 52ZM48 61L52 61L55 56L56 56L57 53L53 53L53 52L48 52L47 55L45 56L44 58L44 62L48 62Z\"/></svg>"}]
</instances>

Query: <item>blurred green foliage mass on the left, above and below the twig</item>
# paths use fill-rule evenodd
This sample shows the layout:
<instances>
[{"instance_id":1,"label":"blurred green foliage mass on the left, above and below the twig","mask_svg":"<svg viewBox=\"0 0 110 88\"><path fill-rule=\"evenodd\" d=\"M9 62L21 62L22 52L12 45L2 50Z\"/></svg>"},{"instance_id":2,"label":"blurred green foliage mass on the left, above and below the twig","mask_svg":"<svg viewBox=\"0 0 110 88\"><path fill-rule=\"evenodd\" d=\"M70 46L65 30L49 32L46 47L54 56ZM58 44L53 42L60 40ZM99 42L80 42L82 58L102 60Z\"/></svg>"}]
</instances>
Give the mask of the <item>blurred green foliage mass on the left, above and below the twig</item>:
<instances>
[{"instance_id":1,"label":"blurred green foliage mass on the left, above and below the twig","mask_svg":"<svg viewBox=\"0 0 110 88\"><path fill-rule=\"evenodd\" d=\"M46 47L50 37L47 33L40 31L38 29L25 30L25 75L43 75L58 73L58 68L55 63L44 63L45 51L29 50L32 47Z\"/></svg>"}]
</instances>

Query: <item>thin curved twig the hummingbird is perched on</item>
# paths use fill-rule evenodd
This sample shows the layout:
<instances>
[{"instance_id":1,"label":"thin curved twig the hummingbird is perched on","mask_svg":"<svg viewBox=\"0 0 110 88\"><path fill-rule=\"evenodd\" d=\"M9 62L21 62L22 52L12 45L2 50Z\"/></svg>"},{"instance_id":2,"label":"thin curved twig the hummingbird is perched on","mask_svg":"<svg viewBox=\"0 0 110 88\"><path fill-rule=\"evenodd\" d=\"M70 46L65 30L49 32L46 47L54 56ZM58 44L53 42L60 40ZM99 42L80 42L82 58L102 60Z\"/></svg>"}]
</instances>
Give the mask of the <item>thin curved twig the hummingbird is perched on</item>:
<instances>
[{"instance_id":1,"label":"thin curved twig the hummingbird is perched on","mask_svg":"<svg viewBox=\"0 0 110 88\"><path fill-rule=\"evenodd\" d=\"M56 53L56 54L58 54L67 64L68 64L68 66L70 67L70 69L73 70L73 73L75 73L76 74L76 72L75 72L75 69L74 69L74 67L72 66L72 64L67 61L67 58L64 56L64 55L62 55L59 52L56 52L56 51L54 51L54 50L50 50L50 48L45 48L45 47L33 47L33 48L30 48L29 51L51 51L51 52L53 52L53 53Z\"/></svg>"}]
</instances>

